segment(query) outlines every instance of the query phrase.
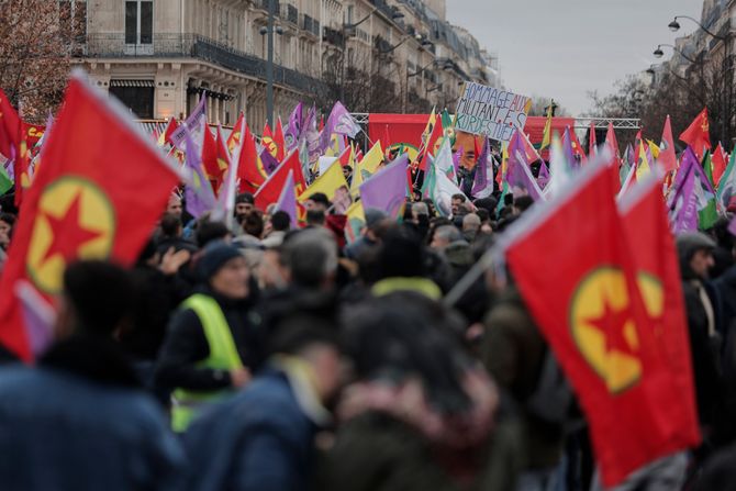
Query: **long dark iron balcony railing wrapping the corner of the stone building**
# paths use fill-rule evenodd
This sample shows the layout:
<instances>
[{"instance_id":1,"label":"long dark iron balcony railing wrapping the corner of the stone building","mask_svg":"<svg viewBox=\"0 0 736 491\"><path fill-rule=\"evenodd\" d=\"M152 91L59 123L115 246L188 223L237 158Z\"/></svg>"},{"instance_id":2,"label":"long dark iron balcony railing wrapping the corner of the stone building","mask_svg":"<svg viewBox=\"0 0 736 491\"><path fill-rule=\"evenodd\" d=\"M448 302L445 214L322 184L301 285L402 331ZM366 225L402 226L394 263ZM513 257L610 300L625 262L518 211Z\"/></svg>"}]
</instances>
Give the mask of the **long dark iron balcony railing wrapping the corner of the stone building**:
<instances>
[{"instance_id":1,"label":"long dark iron balcony railing wrapping the corner of the stone building","mask_svg":"<svg viewBox=\"0 0 736 491\"><path fill-rule=\"evenodd\" d=\"M86 54L89 58L196 58L250 77L266 78L266 60L198 34L154 34L152 44L140 47L125 44L123 33L90 34ZM320 80L280 65L274 66L274 81L300 92L314 92L322 87Z\"/></svg>"}]
</instances>

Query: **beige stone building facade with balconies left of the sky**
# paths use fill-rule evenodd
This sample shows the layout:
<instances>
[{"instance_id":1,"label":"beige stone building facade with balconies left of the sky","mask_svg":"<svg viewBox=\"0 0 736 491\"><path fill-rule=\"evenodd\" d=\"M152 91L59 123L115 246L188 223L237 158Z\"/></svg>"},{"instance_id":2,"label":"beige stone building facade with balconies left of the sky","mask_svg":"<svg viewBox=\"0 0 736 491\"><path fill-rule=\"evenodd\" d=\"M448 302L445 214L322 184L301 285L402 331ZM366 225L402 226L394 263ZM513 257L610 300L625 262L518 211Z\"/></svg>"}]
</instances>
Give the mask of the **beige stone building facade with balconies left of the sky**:
<instances>
[{"instance_id":1,"label":"beige stone building facade with balconies left of the sky","mask_svg":"<svg viewBox=\"0 0 736 491\"><path fill-rule=\"evenodd\" d=\"M65 0L66 1L66 0ZM338 54L361 72L380 63L395 112L449 107L464 80L490 82L475 37L445 20L444 0L274 0L275 113L313 101ZM269 0L71 0L86 3L78 60L140 119L183 118L208 98L213 123L266 120ZM357 25L356 25L357 24Z\"/></svg>"}]
</instances>

